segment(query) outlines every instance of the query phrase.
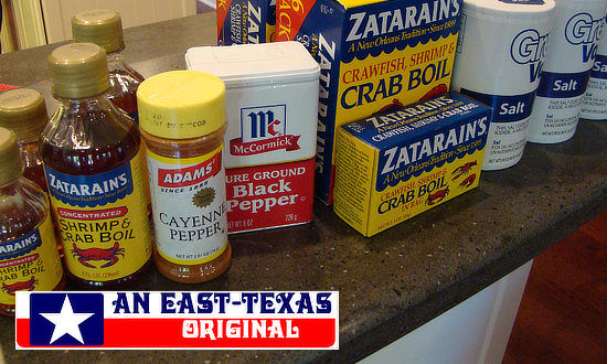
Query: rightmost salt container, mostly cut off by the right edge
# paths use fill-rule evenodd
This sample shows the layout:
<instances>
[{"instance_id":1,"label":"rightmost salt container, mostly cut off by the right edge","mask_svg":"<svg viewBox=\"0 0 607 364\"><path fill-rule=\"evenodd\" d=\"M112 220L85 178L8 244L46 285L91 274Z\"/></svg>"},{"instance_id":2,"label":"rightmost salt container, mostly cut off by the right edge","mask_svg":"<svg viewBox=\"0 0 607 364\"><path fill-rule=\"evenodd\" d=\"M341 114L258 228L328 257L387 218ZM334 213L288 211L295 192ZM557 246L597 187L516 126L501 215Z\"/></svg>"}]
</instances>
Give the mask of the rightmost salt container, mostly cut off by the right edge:
<instances>
[{"instance_id":1,"label":"rightmost salt container, mostly cut off by the right edge","mask_svg":"<svg viewBox=\"0 0 607 364\"><path fill-rule=\"evenodd\" d=\"M605 29L603 30L605 31ZM607 36L600 38L595 64L582 104L581 118L607 120Z\"/></svg>"}]
</instances>

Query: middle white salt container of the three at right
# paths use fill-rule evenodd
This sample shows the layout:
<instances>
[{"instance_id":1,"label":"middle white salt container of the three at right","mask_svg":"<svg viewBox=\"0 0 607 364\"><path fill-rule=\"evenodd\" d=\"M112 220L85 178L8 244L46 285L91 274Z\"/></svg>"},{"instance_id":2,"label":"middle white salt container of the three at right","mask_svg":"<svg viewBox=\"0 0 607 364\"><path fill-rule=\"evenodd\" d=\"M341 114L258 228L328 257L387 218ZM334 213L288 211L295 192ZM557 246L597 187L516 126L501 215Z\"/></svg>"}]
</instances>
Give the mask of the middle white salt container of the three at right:
<instances>
[{"instance_id":1,"label":"middle white salt container of the three at right","mask_svg":"<svg viewBox=\"0 0 607 364\"><path fill-rule=\"evenodd\" d=\"M556 0L529 141L556 143L574 136L606 10L607 0Z\"/></svg>"}]
</instances>

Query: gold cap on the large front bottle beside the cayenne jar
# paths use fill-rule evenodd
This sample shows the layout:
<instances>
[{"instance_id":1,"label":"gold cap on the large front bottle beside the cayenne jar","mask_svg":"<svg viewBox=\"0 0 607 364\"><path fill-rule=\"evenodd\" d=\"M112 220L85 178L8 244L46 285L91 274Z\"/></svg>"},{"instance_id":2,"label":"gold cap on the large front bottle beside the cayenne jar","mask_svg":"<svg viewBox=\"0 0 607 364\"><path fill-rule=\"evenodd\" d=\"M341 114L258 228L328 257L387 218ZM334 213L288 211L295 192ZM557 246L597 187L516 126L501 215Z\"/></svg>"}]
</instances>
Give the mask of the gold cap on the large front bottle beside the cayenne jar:
<instances>
[{"instance_id":1,"label":"gold cap on the large front bottle beside the cayenne jar","mask_svg":"<svg viewBox=\"0 0 607 364\"><path fill-rule=\"evenodd\" d=\"M53 95L83 98L99 95L109 88L107 56L93 43L65 44L49 56L49 75Z\"/></svg>"}]
</instances>

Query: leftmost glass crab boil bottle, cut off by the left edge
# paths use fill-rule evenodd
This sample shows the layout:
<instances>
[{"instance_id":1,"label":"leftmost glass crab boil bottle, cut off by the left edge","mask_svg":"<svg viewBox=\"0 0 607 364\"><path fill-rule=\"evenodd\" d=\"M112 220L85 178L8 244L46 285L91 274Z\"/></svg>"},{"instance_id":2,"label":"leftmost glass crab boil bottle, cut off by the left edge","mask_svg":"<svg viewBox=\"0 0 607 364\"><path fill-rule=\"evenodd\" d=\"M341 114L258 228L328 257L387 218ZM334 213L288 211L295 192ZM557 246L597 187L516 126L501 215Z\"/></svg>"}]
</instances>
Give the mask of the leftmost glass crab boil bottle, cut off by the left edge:
<instances>
[{"instance_id":1,"label":"leftmost glass crab boil bottle, cut off by the left edge","mask_svg":"<svg viewBox=\"0 0 607 364\"><path fill-rule=\"evenodd\" d=\"M22 176L17 136L0 128L0 313L14 314L20 290L65 286L46 194Z\"/></svg>"}]
</instances>

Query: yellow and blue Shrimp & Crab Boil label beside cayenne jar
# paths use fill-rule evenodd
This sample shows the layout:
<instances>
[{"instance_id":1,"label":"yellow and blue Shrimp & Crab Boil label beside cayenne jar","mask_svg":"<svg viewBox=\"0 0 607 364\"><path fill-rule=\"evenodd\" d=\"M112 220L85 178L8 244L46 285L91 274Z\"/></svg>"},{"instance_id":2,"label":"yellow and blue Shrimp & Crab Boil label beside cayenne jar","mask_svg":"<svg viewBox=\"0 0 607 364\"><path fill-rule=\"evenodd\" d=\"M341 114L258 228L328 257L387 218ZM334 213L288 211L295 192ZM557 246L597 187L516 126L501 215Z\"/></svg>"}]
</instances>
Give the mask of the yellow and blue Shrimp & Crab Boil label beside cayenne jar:
<instances>
[{"instance_id":1,"label":"yellow and blue Shrimp & Crab Boil label beside cayenne jar","mask_svg":"<svg viewBox=\"0 0 607 364\"><path fill-rule=\"evenodd\" d=\"M108 281L139 270L151 256L145 149L110 171L72 175L45 165L65 264L81 279Z\"/></svg>"}]
</instances>

